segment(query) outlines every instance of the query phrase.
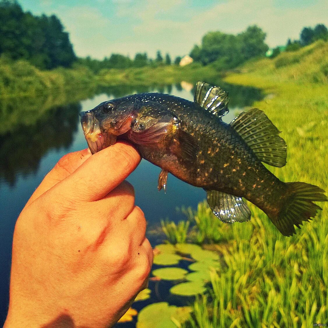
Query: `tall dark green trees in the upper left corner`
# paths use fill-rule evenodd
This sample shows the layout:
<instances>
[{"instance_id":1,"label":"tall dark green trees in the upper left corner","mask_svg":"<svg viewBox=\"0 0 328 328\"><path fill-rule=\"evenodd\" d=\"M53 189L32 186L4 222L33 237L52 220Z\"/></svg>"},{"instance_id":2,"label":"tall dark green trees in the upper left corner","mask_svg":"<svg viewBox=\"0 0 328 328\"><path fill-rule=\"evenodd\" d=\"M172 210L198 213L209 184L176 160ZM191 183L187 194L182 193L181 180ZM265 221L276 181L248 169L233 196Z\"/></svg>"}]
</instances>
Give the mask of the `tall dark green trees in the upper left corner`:
<instances>
[{"instance_id":1,"label":"tall dark green trees in the upper left corner","mask_svg":"<svg viewBox=\"0 0 328 328\"><path fill-rule=\"evenodd\" d=\"M0 54L26 59L40 69L71 67L76 60L69 35L55 16L23 12L16 1L0 1Z\"/></svg>"}]
</instances>

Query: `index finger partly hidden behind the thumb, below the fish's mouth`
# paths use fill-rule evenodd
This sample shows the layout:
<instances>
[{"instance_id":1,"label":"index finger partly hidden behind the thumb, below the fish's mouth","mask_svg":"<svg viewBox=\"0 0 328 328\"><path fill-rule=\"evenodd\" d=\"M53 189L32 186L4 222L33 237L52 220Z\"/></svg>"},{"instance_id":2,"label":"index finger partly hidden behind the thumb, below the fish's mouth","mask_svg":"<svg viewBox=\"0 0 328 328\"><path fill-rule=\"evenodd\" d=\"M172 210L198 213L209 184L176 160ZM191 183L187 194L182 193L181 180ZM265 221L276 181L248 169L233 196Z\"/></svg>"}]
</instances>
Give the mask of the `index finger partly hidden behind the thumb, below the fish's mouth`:
<instances>
[{"instance_id":1,"label":"index finger partly hidden behind the thumb, below the fish's mouth","mask_svg":"<svg viewBox=\"0 0 328 328\"><path fill-rule=\"evenodd\" d=\"M84 163L91 156L88 149L79 150L74 153L69 153L63 156L54 168L44 177L40 185L34 191L26 206L33 202L40 195L48 191L59 181L65 179L72 174L82 163Z\"/></svg>"}]
</instances>

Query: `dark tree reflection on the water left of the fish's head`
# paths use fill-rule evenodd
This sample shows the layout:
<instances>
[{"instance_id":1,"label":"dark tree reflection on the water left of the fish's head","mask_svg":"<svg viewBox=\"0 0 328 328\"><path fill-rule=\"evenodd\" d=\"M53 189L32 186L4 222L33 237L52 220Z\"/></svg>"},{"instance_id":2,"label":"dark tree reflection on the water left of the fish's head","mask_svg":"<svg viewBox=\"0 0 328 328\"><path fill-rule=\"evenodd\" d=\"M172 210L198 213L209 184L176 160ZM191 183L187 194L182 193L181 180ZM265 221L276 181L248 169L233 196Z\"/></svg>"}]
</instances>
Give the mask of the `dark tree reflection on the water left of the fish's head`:
<instances>
[{"instance_id":1,"label":"dark tree reflection on the water left of the fish's head","mask_svg":"<svg viewBox=\"0 0 328 328\"><path fill-rule=\"evenodd\" d=\"M80 110L79 103L51 108L32 124L19 123L0 135L0 179L13 186L17 175L36 172L49 149L68 150L79 127Z\"/></svg>"}]
</instances>

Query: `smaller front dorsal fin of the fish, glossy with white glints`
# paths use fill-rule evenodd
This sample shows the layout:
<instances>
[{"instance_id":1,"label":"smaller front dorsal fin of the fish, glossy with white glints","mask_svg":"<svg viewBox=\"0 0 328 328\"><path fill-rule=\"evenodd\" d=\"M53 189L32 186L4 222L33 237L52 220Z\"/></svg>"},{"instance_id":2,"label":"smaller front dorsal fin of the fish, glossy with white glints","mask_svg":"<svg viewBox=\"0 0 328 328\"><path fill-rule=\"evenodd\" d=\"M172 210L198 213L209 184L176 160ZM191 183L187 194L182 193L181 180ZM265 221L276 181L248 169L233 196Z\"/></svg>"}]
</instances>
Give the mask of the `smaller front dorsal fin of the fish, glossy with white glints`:
<instances>
[{"instance_id":1,"label":"smaller front dorsal fin of the fish, glossy with white glints","mask_svg":"<svg viewBox=\"0 0 328 328\"><path fill-rule=\"evenodd\" d=\"M209 113L221 118L229 113L228 92L205 82L197 82L194 101Z\"/></svg>"}]
</instances>

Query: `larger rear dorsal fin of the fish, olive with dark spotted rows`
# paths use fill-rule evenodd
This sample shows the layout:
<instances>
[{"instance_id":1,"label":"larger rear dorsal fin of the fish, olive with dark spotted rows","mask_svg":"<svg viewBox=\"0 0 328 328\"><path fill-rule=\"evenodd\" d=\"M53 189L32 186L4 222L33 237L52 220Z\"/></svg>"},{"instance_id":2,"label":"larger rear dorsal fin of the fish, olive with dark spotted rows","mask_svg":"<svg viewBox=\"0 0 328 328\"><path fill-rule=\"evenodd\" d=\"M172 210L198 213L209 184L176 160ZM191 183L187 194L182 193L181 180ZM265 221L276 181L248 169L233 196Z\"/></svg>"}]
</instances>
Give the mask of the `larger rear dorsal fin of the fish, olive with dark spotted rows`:
<instances>
[{"instance_id":1,"label":"larger rear dorsal fin of the fish, olive with dark spotted rows","mask_svg":"<svg viewBox=\"0 0 328 328\"><path fill-rule=\"evenodd\" d=\"M258 108L243 112L230 125L244 139L259 160L271 166L283 167L286 164L287 145L280 131Z\"/></svg>"}]
</instances>

